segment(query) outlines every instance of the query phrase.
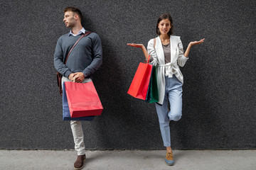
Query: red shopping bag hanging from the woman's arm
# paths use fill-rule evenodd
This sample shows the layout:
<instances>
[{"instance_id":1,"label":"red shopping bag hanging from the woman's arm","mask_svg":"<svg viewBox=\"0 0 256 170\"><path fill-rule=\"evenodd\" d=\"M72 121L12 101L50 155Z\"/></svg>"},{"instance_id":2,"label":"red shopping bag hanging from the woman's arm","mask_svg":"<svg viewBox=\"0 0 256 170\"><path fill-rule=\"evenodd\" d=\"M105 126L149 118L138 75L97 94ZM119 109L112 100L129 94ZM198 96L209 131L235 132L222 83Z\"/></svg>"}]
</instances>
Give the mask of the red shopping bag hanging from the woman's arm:
<instances>
[{"instance_id":1,"label":"red shopping bag hanging from the woman's arm","mask_svg":"<svg viewBox=\"0 0 256 170\"><path fill-rule=\"evenodd\" d=\"M132 84L127 94L134 96L134 98L146 100L152 69L153 65L149 64L149 60L146 63L139 63L139 67L134 75L134 79L132 79Z\"/></svg>"}]
</instances>

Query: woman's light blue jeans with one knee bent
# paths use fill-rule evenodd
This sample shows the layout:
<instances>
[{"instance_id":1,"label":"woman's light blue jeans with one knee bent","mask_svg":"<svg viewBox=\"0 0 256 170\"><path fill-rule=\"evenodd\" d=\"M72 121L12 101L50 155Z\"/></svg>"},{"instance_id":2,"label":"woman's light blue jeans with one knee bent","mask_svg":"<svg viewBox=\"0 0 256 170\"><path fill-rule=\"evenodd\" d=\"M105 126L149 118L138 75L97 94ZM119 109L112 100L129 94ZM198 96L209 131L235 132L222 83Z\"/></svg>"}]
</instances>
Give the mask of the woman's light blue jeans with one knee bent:
<instances>
[{"instance_id":1,"label":"woman's light blue jeans with one knee bent","mask_svg":"<svg viewBox=\"0 0 256 170\"><path fill-rule=\"evenodd\" d=\"M181 119L182 111L182 83L175 75L166 78L166 88L163 105L156 105L156 112L159 117L161 136L164 141L164 147L171 147L171 134L169 120L178 121ZM170 109L168 111L168 99Z\"/></svg>"}]
</instances>

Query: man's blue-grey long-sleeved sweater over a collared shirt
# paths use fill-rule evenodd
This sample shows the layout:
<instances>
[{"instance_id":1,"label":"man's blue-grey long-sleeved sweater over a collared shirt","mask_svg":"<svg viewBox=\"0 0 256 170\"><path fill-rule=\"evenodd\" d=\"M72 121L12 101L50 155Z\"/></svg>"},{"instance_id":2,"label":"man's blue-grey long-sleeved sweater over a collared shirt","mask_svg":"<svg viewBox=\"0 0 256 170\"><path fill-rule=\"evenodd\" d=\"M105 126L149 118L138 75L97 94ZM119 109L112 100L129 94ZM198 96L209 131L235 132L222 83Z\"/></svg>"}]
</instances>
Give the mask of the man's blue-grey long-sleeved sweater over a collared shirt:
<instances>
[{"instance_id":1,"label":"man's blue-grey long-sleeved sweater over a collared shirt","mask_svg":"<svg viewBox=\"0 0 256 170\"><path fill-rule=\"evenodd\" d=\"M96 33L90 33L81 38L70 53L67 63L64 64L68 52L80 36L82 34L73 36L67 33L58 39L54 53L54 66L65 77L71 73L82 72L86 78L90 78L102 64L102 44Z\"/></svg>"}]
</instances>

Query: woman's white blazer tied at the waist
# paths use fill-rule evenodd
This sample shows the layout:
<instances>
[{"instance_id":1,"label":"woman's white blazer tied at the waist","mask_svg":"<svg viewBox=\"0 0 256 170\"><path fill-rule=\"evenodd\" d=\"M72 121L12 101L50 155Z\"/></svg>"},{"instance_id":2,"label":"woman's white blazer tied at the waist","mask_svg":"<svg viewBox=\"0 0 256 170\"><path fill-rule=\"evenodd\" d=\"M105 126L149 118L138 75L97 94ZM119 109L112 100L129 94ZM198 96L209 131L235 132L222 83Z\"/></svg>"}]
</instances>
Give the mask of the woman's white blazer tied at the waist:
<instances>
[{"instance_id":1,"label":"woman's white blazer tied at the waist","mask_svg":"<svg viewBox=\"0 0 256 170\"><path fill-rule=\"evenodd\" d=\"M181 38L178 36L170 36L170 47L171 47L171 62L165 64L164 61L164 50L162 47L161 39L159 36L156 38L156 46L154 47L154 38L149 40L147 50L151 59L150 63L156 66L156 79L159 90L159 104L164 103L165 95L165 77L173 77L173 74L183 84L183 75L178 66L183 67L187 57L183 55L183 45Z\"/></svg>"}]
</instances>

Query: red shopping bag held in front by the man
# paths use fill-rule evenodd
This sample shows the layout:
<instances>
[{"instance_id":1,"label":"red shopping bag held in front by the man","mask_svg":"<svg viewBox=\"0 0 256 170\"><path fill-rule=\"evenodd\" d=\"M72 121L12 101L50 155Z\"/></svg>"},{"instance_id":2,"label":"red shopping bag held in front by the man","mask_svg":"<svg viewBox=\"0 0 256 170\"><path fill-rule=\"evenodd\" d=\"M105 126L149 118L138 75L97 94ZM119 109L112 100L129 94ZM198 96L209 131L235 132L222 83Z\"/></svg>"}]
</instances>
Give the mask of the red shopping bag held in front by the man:
<instances>
[{"instance_id":1,"label":"red shopping bag held in front by the man","mask_svg":"<svg viewBox=\"0 0 256 170\"><path fill-rule=\"evenodd\" d=\"M92 81L84 84L66 81L65 92L71 118L101 115L102 103Z\"/></svg>"}]
</instances>

